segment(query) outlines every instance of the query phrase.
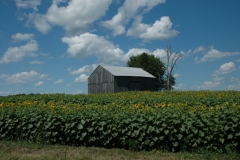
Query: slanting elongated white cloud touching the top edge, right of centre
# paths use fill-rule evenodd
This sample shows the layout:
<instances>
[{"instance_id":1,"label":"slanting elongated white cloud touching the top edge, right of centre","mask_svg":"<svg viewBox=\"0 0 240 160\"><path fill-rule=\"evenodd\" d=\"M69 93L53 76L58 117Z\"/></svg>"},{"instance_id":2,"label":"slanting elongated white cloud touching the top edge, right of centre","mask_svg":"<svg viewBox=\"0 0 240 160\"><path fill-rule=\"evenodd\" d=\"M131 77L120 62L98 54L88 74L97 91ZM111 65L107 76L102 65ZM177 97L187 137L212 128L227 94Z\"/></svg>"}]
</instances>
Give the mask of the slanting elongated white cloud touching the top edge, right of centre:
<instances>
[{"instance_id":1,"label":"slanting elongated white cloud touching the top edge, right of centre","mask_svg":"<svg viewBox=\"0 0 240 160\"><path fill-rule=\"evenodd\" d=\"M114 36L124 34L125 25L132 18L150 11L160 3L165 3L165 0L126 0L118 9L118 13L111 20L103 21L102 26L113 30Z\"/></svg>"}]
</instances>

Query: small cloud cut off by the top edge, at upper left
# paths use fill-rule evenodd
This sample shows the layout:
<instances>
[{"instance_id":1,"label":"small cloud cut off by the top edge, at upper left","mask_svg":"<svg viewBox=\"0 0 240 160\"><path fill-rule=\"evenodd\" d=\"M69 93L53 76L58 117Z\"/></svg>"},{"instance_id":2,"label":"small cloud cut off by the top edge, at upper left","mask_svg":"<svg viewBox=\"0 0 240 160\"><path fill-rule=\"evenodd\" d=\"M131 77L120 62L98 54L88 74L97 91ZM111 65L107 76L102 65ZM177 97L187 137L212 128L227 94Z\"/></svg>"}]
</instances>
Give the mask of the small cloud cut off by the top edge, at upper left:
<instances>
[{"instance_id":1,"label":"small cloud cut off by the top edge, at upper left","mask_svg":"<svg viewBox=\"0 0 240 160\"><path fill-rule=\"evenodd\" d=\"M32 8L37 11L37 6L41 4L42 0L15 0L16 6L18 8Z\"/></svg>"}]
</instances>

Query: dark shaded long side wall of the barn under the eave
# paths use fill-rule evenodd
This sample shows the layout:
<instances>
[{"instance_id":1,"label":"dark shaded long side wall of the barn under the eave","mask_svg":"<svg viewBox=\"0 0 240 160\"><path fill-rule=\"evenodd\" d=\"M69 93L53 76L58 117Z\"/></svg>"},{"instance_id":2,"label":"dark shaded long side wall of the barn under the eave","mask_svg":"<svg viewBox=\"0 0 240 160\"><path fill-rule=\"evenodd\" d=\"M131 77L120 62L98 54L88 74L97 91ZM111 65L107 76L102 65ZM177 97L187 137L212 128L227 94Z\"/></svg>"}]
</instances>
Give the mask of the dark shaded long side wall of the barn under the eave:
<instances>
[{"instance_id":1,"label":"dark shaded long side wall of the barn under the eave","mask_svg":"<svg viewBox=\"0 0 240 160\"><path fill-rule=\"evenodd\" d=\"M114 79L114 92L156 91L156 79L147 77L119 76Z\"/></svg>"}]
</instances>

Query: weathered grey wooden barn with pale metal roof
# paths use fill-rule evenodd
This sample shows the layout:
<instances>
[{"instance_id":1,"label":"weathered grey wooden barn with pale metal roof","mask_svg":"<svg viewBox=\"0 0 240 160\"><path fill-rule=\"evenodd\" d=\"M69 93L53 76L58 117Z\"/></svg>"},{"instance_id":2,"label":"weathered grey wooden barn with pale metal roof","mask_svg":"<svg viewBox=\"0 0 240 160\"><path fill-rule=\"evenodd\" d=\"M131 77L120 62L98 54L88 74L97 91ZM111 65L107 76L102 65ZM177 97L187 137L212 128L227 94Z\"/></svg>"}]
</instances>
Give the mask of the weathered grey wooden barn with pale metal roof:
<instances>
[{"instance_id":1,"label":"weathered grey wooden barn with pale metal roof","mask_svg":"<svg viewBox=\"0 0 240 160\"><path fill-rule=\"evenodd\" d=\"M156 78L141 68L99 65L88 78L88 93L156 91Z\"/></svg>"}]
</instances>

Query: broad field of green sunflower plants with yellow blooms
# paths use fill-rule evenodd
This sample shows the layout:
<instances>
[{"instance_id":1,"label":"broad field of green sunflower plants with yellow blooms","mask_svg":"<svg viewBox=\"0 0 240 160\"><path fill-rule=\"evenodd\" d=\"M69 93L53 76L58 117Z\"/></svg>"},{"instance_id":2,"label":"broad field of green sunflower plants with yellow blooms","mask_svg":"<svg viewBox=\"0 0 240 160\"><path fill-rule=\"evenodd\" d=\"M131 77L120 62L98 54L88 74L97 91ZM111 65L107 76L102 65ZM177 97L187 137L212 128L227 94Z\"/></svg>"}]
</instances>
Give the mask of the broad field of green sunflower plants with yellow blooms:
<instances>
[{"instance_id":1,"label":"broad field of green sunflower plants with yellow blooms","mask_svg":"<svg viewBox=\"0 0 240 160\"><path fill-rule=\"evenodd\" d=\"M0 140L240 151L240 92L123 92L0 97Z\"/></svg>"}]
</instances>

